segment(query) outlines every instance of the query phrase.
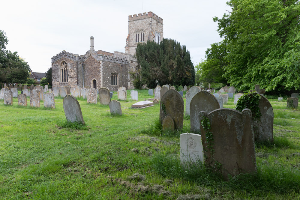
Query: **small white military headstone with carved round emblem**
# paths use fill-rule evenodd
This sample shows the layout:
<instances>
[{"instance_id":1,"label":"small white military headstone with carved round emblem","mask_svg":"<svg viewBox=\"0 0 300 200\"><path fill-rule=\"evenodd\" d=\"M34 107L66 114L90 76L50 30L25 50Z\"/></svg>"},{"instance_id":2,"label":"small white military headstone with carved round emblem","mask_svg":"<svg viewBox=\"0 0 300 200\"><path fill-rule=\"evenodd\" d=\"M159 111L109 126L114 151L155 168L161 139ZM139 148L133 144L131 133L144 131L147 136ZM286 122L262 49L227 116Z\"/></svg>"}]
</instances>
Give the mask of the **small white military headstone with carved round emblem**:
<instances>
[{"instance_id":1,"label":"small white military headstone with carved round emblem","mask_svg":"<svg viewBox=\"0 0 300 200\"><path fill-rule=\"evenodd\" d=\"M201 135L194 133L180 134L180 163L189 168L192 163L203 162Z\"/></svg>"}]
</instances>

